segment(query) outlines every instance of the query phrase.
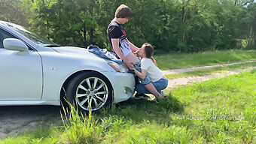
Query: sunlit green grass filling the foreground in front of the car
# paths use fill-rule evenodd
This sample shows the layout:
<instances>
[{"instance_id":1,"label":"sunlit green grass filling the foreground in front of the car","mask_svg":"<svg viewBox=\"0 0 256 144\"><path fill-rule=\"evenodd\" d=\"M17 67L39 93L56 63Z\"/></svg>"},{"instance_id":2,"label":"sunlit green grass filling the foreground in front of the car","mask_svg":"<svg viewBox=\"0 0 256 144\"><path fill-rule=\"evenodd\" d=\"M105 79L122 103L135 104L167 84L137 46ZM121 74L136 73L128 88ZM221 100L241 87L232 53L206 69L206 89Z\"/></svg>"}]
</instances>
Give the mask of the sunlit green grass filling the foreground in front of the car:
<instances>
[{"instance_id":1,"label":"sunlit green grass filling the foreground in front of the car","mask_svg":"<svg viewBox=\"0 0 256 144\"><path fill-rule=\"evenodd\" d=\"M254 70L166 89L170 101L160 104L131 99L81 117L72 110L62 127L0 143L256 143L255 86Z\"/></svg>"}]
</instances>

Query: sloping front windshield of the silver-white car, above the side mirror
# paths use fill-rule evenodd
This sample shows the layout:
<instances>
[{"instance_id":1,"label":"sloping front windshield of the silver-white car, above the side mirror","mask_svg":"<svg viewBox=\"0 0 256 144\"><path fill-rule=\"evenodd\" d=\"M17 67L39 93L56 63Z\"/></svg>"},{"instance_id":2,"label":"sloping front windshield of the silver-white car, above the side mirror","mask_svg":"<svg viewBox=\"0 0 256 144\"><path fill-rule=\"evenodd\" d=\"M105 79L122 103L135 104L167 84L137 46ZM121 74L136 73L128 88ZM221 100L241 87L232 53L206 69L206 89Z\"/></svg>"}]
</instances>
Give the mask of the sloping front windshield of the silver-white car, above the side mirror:
<instances>
[{"instance_id":1,"label":"sloping front windshield of the silver-white car, above the side mirror","mask_svg":"<svg viewBox=\"0 0 256 144\"><path fill-rule=\"evenodd\" d=\"M52 41L48 40L45 37L42 37L41 35L35 34L32 31L28 31L26 28L23 28L23 26L19 26L13 23L5 23L9 27L15 29L16 31L19 31L24 36L28 37L30 40L34 41L35 43L38 43L41 46L48 46L48 47L56 47L59 46L56 43L53 43Z\"/></svg>"}]
</instances>

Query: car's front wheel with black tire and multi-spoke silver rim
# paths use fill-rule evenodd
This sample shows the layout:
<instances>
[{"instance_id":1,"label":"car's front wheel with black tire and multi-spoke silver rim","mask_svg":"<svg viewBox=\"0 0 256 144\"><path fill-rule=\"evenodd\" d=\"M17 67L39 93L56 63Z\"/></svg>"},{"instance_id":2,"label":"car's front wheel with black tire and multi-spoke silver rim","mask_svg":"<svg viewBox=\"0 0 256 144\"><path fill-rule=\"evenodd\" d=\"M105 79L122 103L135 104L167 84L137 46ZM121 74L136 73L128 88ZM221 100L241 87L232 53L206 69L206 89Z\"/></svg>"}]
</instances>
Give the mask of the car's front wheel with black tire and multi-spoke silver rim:
<instances>
[{"instance_id":1,"label":"car's front wheel with black tire and multi-spoke silver rim","mask_svg":"<svg viewBox=\"0 0 256 144\"><path fill-rule=\"evenodd\" d=\"M75 77L67 88L67 99L78 110L95 112L112 103L112 87L109 81L93 71Z\"/></svg>"}]
</instances>

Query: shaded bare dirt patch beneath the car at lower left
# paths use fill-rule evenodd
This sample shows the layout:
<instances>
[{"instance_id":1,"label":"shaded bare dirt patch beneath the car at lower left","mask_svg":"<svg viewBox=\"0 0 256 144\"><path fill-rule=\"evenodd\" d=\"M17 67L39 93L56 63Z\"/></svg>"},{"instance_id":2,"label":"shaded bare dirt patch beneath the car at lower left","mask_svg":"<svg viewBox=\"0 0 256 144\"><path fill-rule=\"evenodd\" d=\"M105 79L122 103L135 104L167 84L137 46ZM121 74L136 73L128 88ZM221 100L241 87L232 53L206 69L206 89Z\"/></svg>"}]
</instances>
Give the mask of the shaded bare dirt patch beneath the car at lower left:
<instances>
[{"instance_id":1,"label":"shaded bare dirt patch beneath the car at lower left","mask_svg":"<svg viewBox=\"0 0 256 144\"><path fill-rule=\"evenodd\" d=\"M60 109L54 106L1 107L0 138L61 122Z\"/></svg>"}]
</instances>

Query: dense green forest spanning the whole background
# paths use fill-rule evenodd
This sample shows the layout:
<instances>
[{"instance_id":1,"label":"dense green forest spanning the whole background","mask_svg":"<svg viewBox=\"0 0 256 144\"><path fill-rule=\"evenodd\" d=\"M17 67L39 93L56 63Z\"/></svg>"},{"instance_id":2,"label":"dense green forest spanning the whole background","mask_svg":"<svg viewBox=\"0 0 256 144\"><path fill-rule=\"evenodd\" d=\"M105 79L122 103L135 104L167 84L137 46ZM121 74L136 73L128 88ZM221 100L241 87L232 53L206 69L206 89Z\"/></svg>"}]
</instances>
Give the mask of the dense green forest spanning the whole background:
<instances>
[{"instance_id":1,"label":"dense green forest spanning the whole background","mask_svg":"<svg viewBox=\"0 0 256 144\"><path fill-rule=\"evenodd\" d=\"M123 25L136 46L157 52L256 49L254 0L0 0L0 20L62 46L110 49L106 30L116 8L133 11Z\"/></svg>"}]
</instances>

